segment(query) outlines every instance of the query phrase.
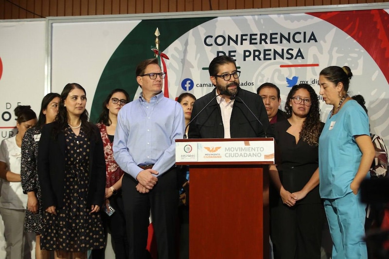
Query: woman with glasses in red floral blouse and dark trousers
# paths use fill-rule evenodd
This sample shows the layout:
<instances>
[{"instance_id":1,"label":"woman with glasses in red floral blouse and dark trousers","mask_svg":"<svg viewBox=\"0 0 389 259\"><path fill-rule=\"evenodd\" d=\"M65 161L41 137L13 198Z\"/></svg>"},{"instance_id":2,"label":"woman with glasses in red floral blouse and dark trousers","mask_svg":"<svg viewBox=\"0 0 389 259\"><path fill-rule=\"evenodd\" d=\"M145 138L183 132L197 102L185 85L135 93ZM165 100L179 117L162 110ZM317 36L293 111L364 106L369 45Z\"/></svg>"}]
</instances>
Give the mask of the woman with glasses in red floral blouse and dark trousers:
<instances>
[{"instance_id":1,"label":"woman with glasses in red floral blouse and dark trousers","mask_svg":"<svg viewBox=\"0 0 389 259\"><path fill-rule=\"evenodd\" d=\"M109 228L114 242L114 252L117 259L128 258L128 241L125 233L125 218L122 197L122 178L124 172L113 158L112 144L118 122L118 112L128 103L129 95L124 89L112 90L103 102L102 112L96 124L103 139L104 155L106 158L106 194L101 216L104 230ZM108 215L109 209L115 211ZM108 214L106 213L108 212ZM105 258L104 249L92 250L92 258Z\"/></svg>"}]
</instances>

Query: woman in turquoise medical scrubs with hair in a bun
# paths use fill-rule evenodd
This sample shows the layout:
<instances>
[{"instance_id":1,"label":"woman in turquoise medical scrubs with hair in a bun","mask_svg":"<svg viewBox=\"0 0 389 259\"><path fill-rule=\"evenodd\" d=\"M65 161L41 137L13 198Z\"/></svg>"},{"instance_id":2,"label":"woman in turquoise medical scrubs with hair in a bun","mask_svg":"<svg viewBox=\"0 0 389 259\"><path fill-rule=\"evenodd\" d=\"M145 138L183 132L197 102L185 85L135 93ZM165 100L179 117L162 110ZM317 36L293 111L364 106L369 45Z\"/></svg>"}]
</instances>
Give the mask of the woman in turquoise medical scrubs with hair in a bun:
<instances>
[{"instance_id":1,"label":"woman in turquoise medical scrubs with hair in a bun","mask_svg":"<svg viewBox=\"0 0 389 259\"><path fill-rule=\"evenodd\" d=\"M333 259L367 258L366 205L359 187L374 158L369 118L347 94L353 73L331 66L319 74L320 94L333 105L319 139L320 196L333 242Z\"/></svg>"}]
</instances>

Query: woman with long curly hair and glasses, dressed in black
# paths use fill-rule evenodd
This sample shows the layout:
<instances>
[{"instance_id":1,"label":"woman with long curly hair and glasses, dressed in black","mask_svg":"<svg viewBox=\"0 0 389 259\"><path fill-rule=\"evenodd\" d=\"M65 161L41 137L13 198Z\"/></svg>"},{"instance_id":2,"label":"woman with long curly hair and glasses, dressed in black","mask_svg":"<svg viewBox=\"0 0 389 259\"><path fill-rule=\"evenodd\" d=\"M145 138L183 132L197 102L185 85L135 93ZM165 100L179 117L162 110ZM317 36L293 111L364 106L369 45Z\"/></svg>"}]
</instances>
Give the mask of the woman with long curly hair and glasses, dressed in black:
<instances>
[{"instance_id":1,"label":"woman with long curly hair and glasses, dressed in black","mask_svg":"<svg viewBox=\"0 0 389 259\"><path fill-rule=\"evenodd\" d=\"M270 197L270 235L275 259L319 259L324 208L318 184L318 95L306 84L293 86L285 103L286 118L274 124L280 164L270 178L278 191Z\"/></svg>"}]
</instances>

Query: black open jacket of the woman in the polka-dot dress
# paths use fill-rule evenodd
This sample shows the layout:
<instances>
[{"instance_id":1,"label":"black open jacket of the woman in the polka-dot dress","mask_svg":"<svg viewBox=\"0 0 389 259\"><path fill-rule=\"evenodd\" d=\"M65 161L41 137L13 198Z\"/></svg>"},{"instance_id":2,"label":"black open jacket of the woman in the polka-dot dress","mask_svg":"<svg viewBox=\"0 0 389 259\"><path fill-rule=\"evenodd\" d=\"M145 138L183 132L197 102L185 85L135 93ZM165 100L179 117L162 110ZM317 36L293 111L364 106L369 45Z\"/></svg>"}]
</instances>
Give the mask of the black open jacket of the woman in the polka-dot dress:
<instances>
[{"instance_id":1,"label":"black open jacket of the woman in the polka-dot dress","mask_svg":"<svg viewBox=\"0 0 389 259\"><path fill-rule=\"evenodd\" d=\"M87 205L102 206L106 187L106 163L104 158L103 141L95 125L98 135L90 137L89 149L89 187ZM65 192L65 136L58 134L54 139L52 135L53 123L42 128L38 149L38 176L42 191L43 208L50 206L61 208L64 206Z\"/></svg>"}]
</instances>

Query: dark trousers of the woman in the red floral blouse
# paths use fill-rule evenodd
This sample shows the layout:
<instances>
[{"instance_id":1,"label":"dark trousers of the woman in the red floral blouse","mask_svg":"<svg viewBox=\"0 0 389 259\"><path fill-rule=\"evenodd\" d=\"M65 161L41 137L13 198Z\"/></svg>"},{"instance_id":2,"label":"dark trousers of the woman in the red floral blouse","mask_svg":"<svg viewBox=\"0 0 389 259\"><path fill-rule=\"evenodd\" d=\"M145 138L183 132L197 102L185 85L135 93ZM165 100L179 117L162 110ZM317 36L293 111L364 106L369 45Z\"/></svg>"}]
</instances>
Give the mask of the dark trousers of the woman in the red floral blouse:
<instances>
[{"instance_id":1,"label":"dark trousers of the woman in the red floral blouse","mask_svg":"<svg viewBox=\"0 0 389 259\"><path fill-rule=\"evenodd\" d=\"M108 216L104 212L104 207L100 210L104 232L107 234L108 229L110 231L115 258L128 259L129 246L125 231L124 205L121 190L119 190L117 195L112 195L109 198L109 203L115 209L115 212L111 216ZM92 250L92 259L105 259L105 248Z\"/></svg>"}]
</instances>

